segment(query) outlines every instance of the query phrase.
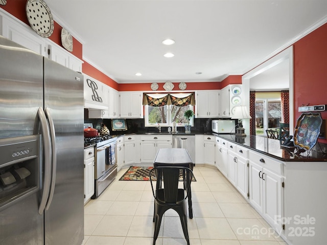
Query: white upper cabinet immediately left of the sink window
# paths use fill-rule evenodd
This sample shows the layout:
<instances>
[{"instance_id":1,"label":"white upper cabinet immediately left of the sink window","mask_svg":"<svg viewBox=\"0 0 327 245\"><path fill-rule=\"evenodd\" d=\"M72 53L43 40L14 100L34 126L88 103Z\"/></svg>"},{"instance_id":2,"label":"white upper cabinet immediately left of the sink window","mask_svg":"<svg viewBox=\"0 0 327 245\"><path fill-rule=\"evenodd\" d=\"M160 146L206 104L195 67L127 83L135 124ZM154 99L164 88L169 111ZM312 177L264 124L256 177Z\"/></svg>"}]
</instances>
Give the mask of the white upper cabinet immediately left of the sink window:
<instances>
[{"instance_id":1,"label":"white upper cabinet immediately left of the sink window","mask_svg":"<svg viewBox=\"0 0 327 245\"><path fill-rule=\"evenodd\" d=\"M121 92L120 107L121 118L143 118L142 92Z\"/></svg>"}]
</instances>

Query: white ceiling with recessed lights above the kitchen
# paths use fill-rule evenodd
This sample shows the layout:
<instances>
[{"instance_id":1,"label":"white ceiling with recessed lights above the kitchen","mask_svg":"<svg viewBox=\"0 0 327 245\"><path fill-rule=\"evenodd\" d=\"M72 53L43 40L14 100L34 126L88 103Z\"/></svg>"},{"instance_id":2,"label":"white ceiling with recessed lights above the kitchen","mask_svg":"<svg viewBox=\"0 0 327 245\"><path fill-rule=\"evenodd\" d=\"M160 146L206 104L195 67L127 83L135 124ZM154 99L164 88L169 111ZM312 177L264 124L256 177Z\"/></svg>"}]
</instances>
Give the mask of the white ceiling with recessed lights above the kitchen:
<instances>
[{"instance_id":1,"label":"white ceiling with recessed lights above the kitchen","mask_svg":"<svg viewBox=\"0 0 327 245\"><path fill-rule=\"evenodd\" d=\"M82 42L83 59L118 83L243 75L327 19L326 0L45 2ZM162 44L166 38L176 43Z\"/></svg>"}]
</instances>

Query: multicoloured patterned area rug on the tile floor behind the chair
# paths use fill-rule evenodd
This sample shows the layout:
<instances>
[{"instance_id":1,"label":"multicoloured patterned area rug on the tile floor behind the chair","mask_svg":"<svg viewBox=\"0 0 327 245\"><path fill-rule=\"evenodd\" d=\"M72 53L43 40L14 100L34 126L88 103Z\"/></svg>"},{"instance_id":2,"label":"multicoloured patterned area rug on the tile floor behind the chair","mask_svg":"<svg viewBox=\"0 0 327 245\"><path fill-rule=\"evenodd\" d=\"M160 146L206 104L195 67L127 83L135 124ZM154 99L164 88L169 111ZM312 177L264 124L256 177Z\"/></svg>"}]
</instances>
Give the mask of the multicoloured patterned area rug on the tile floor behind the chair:
<instances>
[{"instance_id":1,"label":"multicoloured patterned area rug on the tile floor behind the chair","mask_svg":"<svg viewBox=\"0 0 327 245\"><path fill-rule=\"evenodd\" d=\"M149 171L153 167L130 166L126 173L119 180L150 180ZM154 173L151 175L152 181L156 180ZM182 181L182 174L179 174L179 181ZM194 176L192 181L196 181Z\"/></svg>"}]
</instances>

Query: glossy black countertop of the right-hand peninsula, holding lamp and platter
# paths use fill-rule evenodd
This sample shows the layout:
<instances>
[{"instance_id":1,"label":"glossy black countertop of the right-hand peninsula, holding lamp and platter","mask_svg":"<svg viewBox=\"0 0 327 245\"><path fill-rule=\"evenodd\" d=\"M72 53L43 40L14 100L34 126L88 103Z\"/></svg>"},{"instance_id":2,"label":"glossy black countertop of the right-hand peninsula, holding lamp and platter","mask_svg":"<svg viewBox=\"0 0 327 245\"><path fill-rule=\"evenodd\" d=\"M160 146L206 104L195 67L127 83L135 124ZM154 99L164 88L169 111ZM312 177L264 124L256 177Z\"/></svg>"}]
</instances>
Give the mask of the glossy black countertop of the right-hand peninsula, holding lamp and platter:
<instances>
[{"instance_id":1,"label":"glossy black countertop of the right-hand peninsula, holding lamp and platter","mask_svg":"<svg viewBox=\"0 0 327 245\"><path fill-rule=\"evenodd\" d=\"M316 147L316 149L318 149L319 151L311 150L310 152L293 154L293 152L290 151L291 150L290 148L281 146L279 144L279 140L276 139L270 139L262 136L247 135L244 138L244 142L242 142L242 140L236 138L236 136L233 134L214 134L214 135L217 135L233 143L242 145L256 152L273 157L280 161L327 162L327 152L323 153L322 150L319 149L319 146Z\"/></svg>"}]
</instances>

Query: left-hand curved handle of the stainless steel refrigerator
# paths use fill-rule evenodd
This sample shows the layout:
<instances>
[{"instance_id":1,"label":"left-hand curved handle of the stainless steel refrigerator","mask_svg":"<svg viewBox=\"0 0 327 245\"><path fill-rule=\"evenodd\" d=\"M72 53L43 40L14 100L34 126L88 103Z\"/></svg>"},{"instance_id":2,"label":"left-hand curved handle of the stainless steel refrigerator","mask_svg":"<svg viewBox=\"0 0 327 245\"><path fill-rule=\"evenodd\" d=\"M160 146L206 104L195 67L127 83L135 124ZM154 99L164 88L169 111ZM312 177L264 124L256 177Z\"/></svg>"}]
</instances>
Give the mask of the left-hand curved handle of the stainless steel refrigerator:
<instances>
[{"instance_id":1,"label":"left-hand curved handle of the stainless steel refrigerator","mask_svg":"<svg viewBox=\"0 0 327 245\"><path fill-rule=\"evenodd\" d=\"M39 214L42 214L46 205L46 201L49 197L50 182L51 182L51 140L48 127L48 121L46 120L43 109L40 107L37 111L38 118L41 124L42 138L43 138L43 191L39 205Z\"/></svg>"}]
</instances>

